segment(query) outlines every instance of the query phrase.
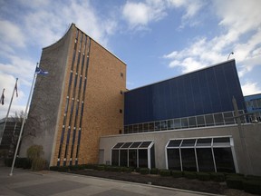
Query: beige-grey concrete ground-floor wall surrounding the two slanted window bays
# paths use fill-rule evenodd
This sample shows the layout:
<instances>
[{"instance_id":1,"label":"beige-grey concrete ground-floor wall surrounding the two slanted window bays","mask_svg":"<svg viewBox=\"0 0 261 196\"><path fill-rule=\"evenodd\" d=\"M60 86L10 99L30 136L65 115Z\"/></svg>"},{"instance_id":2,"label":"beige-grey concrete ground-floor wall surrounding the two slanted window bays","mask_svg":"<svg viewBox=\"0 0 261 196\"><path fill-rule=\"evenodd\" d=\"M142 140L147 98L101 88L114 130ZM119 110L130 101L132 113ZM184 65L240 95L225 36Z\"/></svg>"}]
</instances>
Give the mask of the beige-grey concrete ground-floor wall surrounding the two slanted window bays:
<instances>
[{"instance_id":1,"label":"beige-grey concrete ground-floor wall surrounding the two slanted window bays","mask_svg":"<svg viewBox=\"0 0 261 196\"><path fill-rule=\"evenodd\" d=\"M154 141L156 167L163 169L166 168L165 147L166 144L169 142L169 139L232 136L237 157L236 163L238 165L238 172L261 175L261 153L257 150L261 149L261 123L243 124L242 127L245 134L247 152L250 157L250 171L247 171L247 154L242 149L237 125L222 127L204 127L165 132L142 132L134 134L111 135L101 138L100 150L104 150L103 163L106 163L108 161L111 162L111 148L117 142L137 142L148 140Z\"/></svg>"}]
</instances>

